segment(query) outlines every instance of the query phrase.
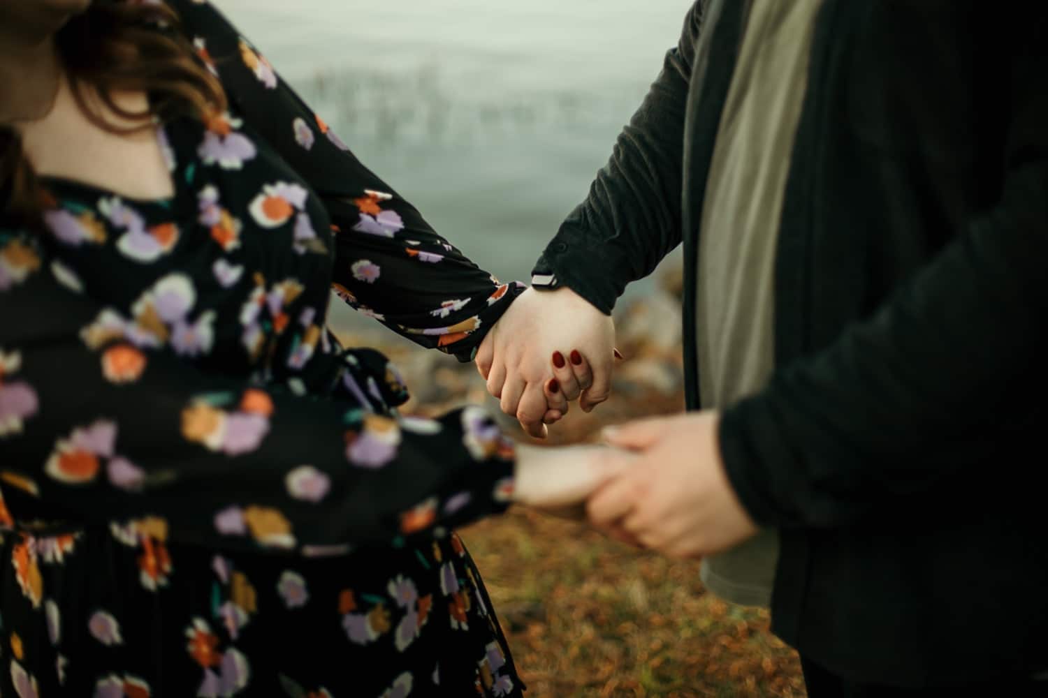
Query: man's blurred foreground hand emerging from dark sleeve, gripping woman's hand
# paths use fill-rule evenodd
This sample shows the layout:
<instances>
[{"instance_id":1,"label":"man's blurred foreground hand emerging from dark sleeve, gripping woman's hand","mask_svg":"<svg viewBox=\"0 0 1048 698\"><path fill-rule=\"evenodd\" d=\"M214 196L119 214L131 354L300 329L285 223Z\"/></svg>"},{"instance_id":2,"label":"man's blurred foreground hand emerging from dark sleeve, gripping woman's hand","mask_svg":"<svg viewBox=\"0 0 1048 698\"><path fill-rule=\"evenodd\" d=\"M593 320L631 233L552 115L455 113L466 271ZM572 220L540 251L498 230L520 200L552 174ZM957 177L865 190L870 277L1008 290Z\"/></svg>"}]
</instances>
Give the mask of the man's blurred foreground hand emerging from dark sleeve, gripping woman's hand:
<instances>
[{"instance_id":1,"label":"man's blurred foreground hand emerging from dark sleeve, gripping woman's hand","mask_svg":"<svg viewBox=\"0 0 1048 698\"><path fill-rule=\"evenodd\" d=\"M674 557L720 553L755 535L724 473L716 412L632 422L606 438L638 459L590 498L594 525Z\"/></svg>"}]
</instances>

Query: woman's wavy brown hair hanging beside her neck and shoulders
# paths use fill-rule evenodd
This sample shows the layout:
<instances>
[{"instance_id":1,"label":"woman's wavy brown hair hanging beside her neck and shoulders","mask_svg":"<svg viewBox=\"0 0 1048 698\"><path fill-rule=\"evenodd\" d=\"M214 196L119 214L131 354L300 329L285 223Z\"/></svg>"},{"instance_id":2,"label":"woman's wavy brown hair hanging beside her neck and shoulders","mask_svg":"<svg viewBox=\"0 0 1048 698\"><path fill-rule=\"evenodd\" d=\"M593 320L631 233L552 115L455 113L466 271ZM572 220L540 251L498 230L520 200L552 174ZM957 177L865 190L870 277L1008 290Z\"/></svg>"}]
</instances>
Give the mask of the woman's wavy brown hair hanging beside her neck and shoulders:
<instances>
[{"instance_id":1,"label":"woman's wavy brown hair hanging beside her neck and shoulders","mask_svg":"<svg viewBox=\"0 0 1048 698\"><path fill-rule=\"evenodd\" d=\"M77 104L107 131L134 133L150 128L154 116L203 119L226 108L221 83L196 60L178 16L166 4L95 1L69 20L56 43ZM147 92L149 108L122 108L113 94L125 90ZM93 109L92 92L131 126L114 125ZM0 126L0 220L39 228L44 201L18 132Z\"/></svg>"}]
</instances>

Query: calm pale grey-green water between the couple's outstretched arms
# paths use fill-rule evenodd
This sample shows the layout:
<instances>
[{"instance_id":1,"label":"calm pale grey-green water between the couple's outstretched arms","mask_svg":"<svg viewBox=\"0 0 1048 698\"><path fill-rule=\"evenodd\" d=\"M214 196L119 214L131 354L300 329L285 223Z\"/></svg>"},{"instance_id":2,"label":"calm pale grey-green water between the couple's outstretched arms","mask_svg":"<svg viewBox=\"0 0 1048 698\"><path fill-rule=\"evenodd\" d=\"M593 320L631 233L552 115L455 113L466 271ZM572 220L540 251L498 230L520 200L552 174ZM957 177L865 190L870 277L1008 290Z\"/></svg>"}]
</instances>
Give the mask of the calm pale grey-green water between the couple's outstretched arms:
<instances>
[{"instance_id":1,"label":"calm pale grey-green water between the couple's outstretched arms","mask_svg":"<svg viewBox=\"0 0 1048 698\"><path fill-rule=\"evenodd\" d=\"M585 197L692 4L217 2L362 160L507 279Z\"/></svg>"}]
</instances>

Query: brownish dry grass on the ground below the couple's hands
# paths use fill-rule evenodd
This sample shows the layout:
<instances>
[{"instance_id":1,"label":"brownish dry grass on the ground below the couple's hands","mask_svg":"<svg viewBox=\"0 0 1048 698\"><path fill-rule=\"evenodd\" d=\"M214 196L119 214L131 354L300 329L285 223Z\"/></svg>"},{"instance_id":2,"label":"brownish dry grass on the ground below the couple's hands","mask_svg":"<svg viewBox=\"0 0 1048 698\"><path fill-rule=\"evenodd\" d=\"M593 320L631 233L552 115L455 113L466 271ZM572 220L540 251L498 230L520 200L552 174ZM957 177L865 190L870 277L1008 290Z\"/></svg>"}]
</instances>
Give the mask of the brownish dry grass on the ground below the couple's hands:
<instances>
[{"instance_id":1,"label":"brownish dry grass on the ground below the couple's hands","mask_svg":"<svg viewBox=\"0 0 1048 698\"><path fill-rule=\"evenodd\" d=\"M805 695L767 613L706 593L697 562L521 510L461 533L531 698Z\"/></svg>"}]
</instances>

